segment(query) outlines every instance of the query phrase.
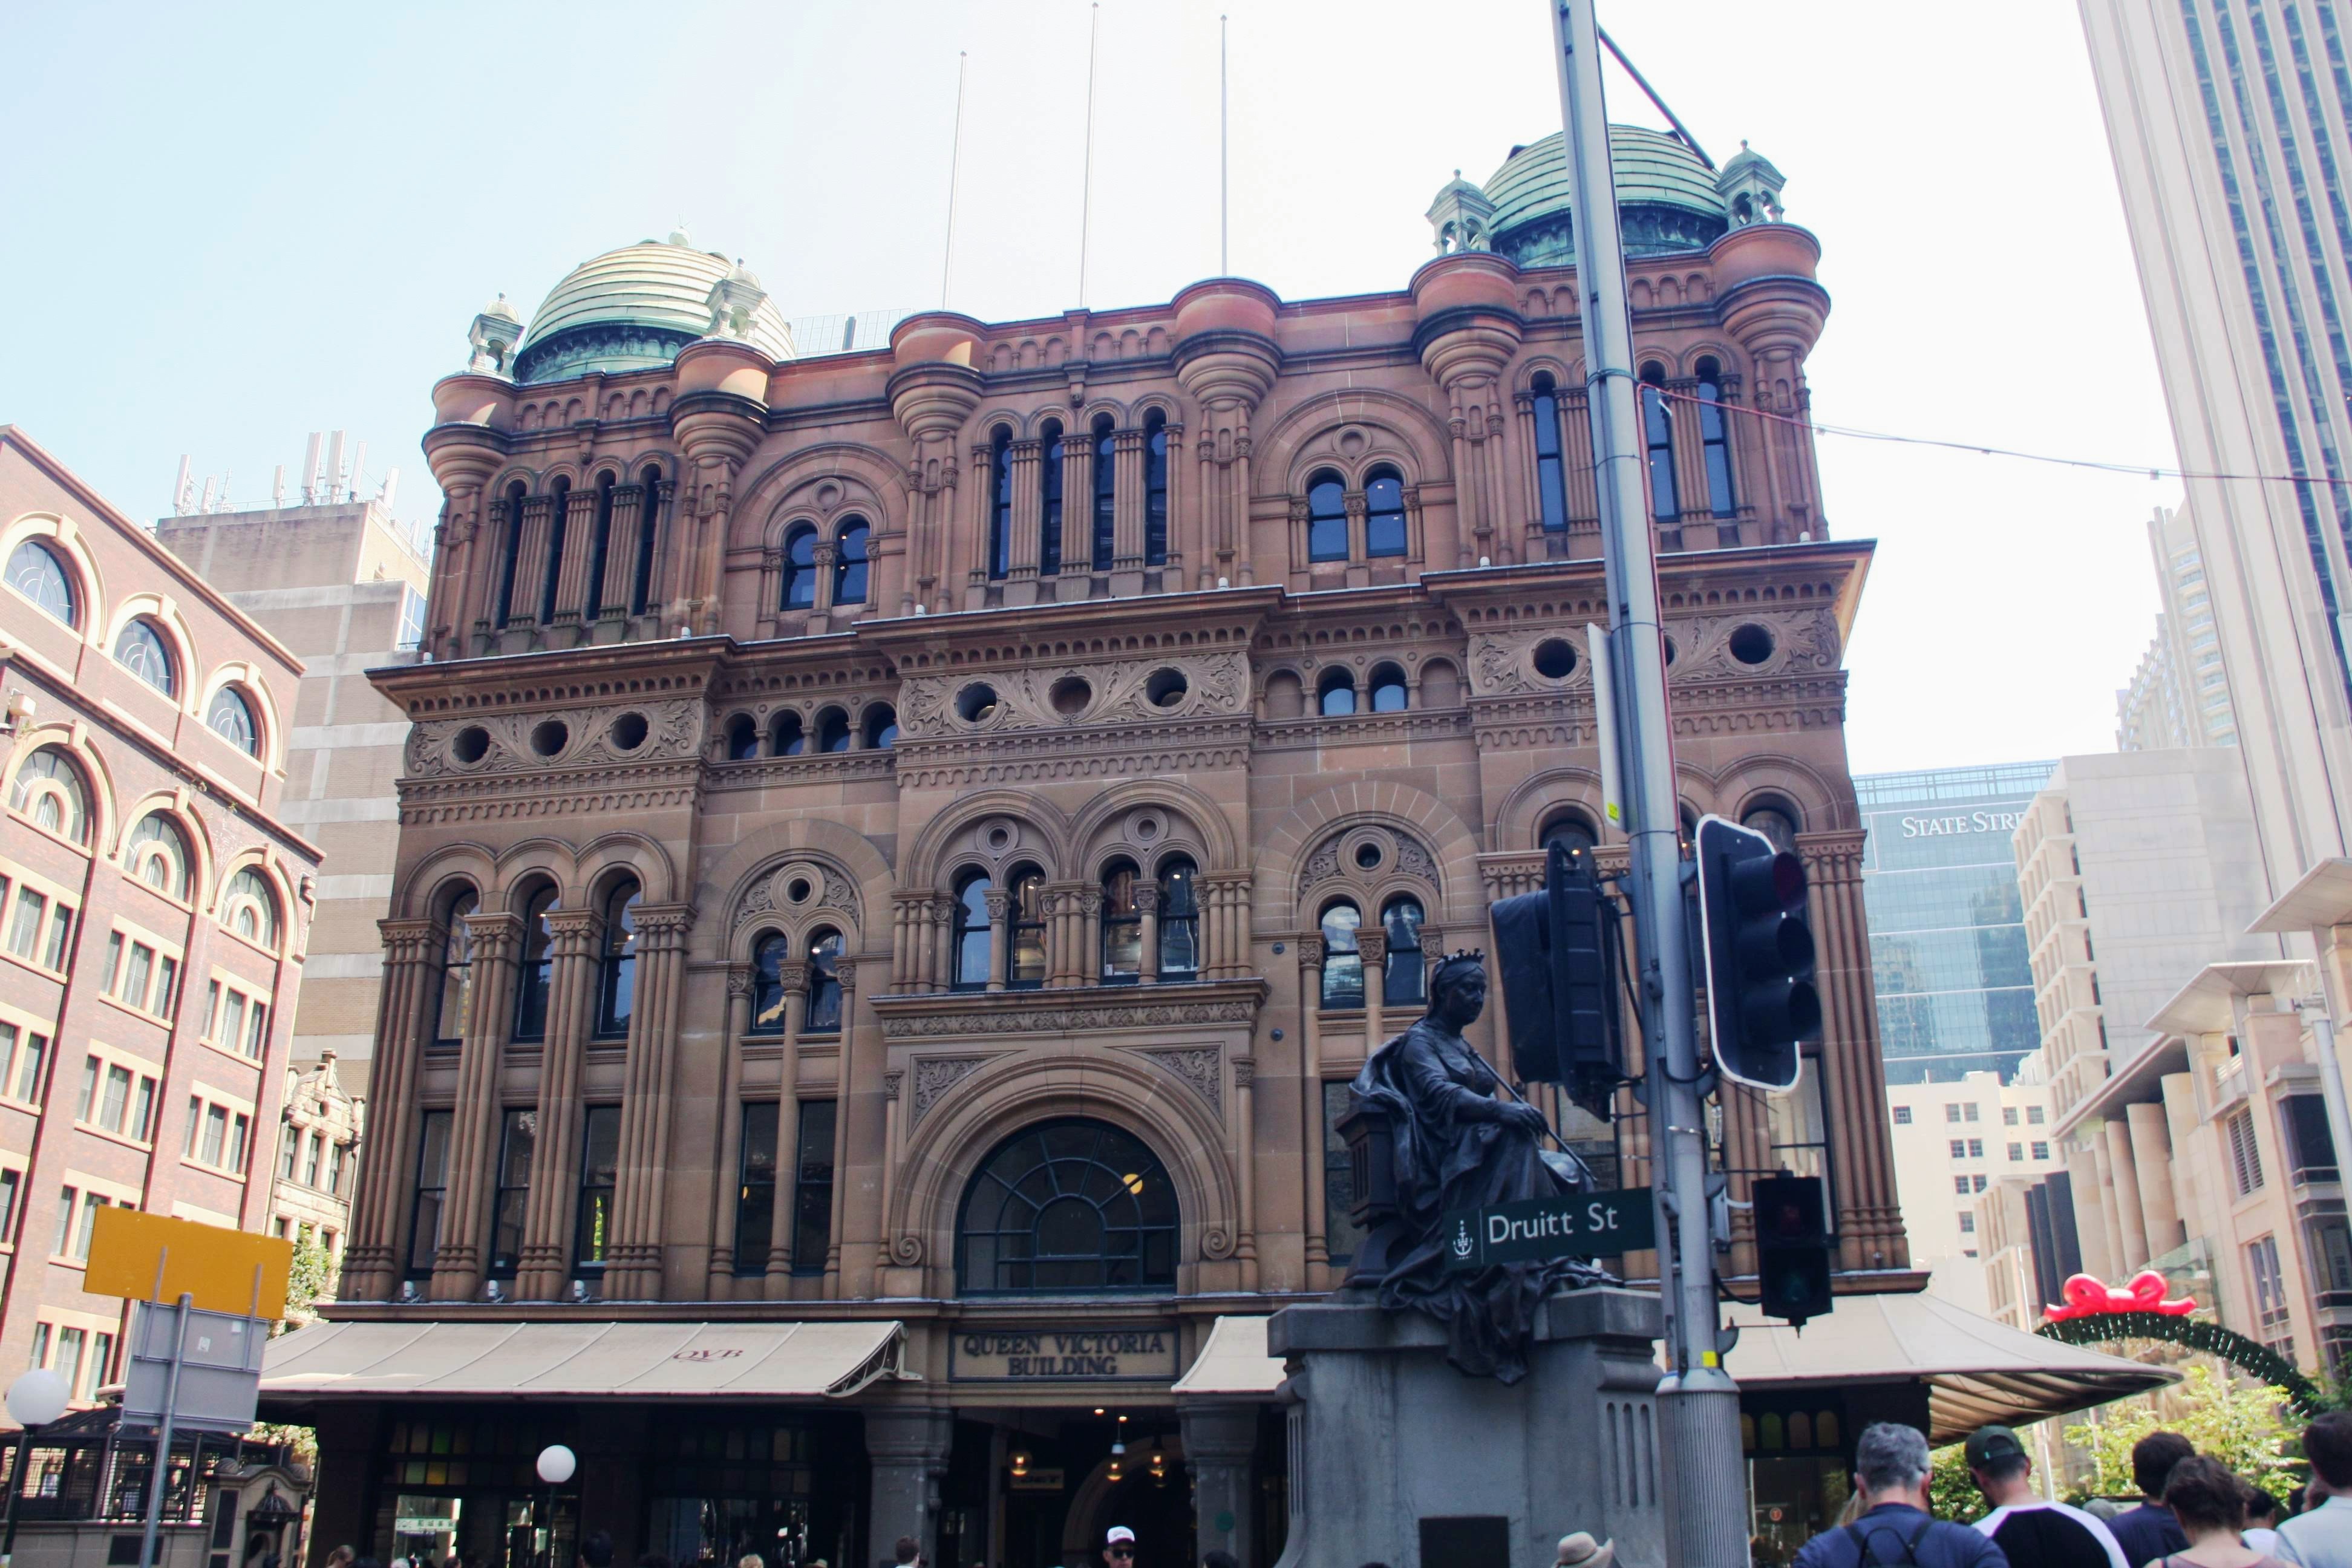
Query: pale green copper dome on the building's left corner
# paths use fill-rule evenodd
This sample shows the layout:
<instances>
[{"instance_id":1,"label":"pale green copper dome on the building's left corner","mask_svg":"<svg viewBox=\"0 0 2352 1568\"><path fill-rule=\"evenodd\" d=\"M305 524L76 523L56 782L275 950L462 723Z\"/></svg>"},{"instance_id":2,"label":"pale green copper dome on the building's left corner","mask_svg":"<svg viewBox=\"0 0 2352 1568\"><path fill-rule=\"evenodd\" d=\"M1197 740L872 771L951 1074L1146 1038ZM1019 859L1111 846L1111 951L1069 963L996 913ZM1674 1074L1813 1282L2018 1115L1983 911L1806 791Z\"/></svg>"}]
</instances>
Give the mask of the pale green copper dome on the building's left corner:
<instances>
[{"instance_id":1,"label":"pale green copper dome on the building's left corner","mask_svg":"<svg viewBox=\"0 0 2352 1568\"><path fill-rule=\"evenodd\" d=\"M729 277L755 294L760 289L757 277L717 252L694 249L682 233L593 256L532 313L515 355L515 381L663 367L694 339L710 336L710 289ZM767 294L757 294L736 336L771 360L795 357L793 331Z\"/></svg>"}]
</instances>

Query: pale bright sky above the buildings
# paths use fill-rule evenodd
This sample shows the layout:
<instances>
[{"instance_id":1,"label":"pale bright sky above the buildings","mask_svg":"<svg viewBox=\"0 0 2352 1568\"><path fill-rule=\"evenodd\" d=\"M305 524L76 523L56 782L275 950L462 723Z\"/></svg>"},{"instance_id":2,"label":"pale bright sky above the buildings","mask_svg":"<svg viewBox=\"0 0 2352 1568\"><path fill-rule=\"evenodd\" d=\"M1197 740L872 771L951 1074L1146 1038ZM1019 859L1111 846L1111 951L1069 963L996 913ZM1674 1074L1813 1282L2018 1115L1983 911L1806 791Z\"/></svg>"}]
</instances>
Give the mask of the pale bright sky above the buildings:
<instances>
[{"instance_id":1,"label":"pale bright sky above the buildings","mask_svg":"<svg viewBox=\"0 0 2352 1568\"><path fill-rule=\"evenodd\" d=\"M1543 0L1223 0L1232 270L1399 289L1461 167L1559 129ZM1218 0L1105 0L1087 303L1218 270ZM1719 160L1755 143L1820 235L1830 423L2173 463L2082 28L2058 0L1604 2ZM268 496L308 430L402 470L503 292L663 235L788 317L1077 299L1084 0L47 5L0 96L0 421L136 517L181 454ZM1656 122L1623 75L1611 113ZM1823 437L1832 534L1877 538L1849 649L1856 771L2112 750L2178 484Z\"/></svg>"}]
</instances>

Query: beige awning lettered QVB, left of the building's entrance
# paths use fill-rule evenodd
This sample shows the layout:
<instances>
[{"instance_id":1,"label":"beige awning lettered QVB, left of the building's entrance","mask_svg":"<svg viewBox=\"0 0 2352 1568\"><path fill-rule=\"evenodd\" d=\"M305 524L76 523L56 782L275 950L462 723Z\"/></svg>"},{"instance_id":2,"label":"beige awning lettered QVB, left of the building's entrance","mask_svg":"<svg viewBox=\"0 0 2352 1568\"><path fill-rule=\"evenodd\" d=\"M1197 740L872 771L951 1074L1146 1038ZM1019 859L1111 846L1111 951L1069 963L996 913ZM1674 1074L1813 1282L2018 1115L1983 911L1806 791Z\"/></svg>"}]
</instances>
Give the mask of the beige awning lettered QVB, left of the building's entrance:
<instances>
[{"instance_id":1,"label":"beige awning lettered QVB, left of the building's entrance","mask_svg":"<svg viewBox=\"0 0 2352 1568\"><path fill-rule=\"evenodd\" d=\"M268 1342L261 1396L847 1399L903 1363L896 1321L313 1324Z\"/></svg>"}]
</instances>

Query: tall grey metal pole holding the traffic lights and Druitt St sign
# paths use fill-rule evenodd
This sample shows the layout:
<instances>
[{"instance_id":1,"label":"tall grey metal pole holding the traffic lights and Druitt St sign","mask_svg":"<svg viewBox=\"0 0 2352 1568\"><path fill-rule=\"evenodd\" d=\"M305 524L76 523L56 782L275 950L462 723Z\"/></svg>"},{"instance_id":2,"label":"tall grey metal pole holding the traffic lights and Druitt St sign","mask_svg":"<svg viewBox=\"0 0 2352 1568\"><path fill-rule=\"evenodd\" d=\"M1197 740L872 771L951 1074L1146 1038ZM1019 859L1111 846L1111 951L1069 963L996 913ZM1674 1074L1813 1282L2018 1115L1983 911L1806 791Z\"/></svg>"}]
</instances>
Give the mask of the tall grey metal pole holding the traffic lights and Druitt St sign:
<instances>
[{"instance_id":1,"label":"tall grey metal pole holding the traffic lights and Druitt St sign","mask_svg":"<svg viewBox=\"0 0 2352 1568\"><path fill-rule=\"evenodd\" d=\"M1632 917L1642 950L1642 1048L1649 1067L1649 1145L1658 1192L1658 1293L1668 1373L1658 1425L1670 1479L1665 1556L1672 1568L1748 1566L1748 1476L1740 1394L1717 1352L1715 1248L1708 1227L1708 1138L1698 1103L1691 943L1682 912L1679 799L1665 708L1665 630L1658 559L1642 484L1642 425L1632 317L1618 235L1602 47L1592 0L1552 7L1559 110L1566 122L1576 284L1585 329L1602 564L1609 585L1609 665L1616 679L1625 827L1632 839ZM1668 1229L1672 1225L1672 1232ZM1672 1237L1668 1244L1665 1239Z\"/></svg>"}]
</instances>

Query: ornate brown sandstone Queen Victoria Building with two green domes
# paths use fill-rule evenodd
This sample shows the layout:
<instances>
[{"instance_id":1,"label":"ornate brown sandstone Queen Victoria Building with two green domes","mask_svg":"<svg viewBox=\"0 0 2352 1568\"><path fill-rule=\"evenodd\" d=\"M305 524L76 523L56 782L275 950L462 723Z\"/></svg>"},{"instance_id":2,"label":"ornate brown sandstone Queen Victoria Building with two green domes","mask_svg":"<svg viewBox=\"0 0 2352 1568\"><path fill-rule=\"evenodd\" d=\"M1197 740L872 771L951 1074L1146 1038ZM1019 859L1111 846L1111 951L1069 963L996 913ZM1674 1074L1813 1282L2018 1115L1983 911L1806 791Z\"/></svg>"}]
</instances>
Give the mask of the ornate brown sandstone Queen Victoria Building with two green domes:
<instances>
[{"instance_id":1,"label":"ornate brown sandstone Queen Victoria Building with two green domes","mask_svg":"<svg viewBox=\"0 0 2352 1568\"><path fill-rule=\"evenodd\" d=\"M1804 1088L1729 1098L1724 1164L1830 1175L1846 1288L1917 1288L1842 736L1870 545L1755 416L1804 411L1818 244L1752 153L1616 155L1684 795L1804 853L1823 945ZM268 1385L320 1544L1272 1561L1263 1316L1348 1272L1345 1081L1599 820L1559 139L1430 219L1392 294L870 353L682 235L475 320L430 661L376 677L414 731L343 1300ZM1637 1114L1576 1135L1646 1182Z\"/></svg>"}]
</instances>

